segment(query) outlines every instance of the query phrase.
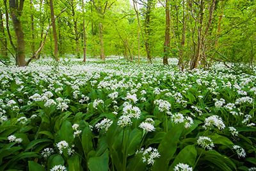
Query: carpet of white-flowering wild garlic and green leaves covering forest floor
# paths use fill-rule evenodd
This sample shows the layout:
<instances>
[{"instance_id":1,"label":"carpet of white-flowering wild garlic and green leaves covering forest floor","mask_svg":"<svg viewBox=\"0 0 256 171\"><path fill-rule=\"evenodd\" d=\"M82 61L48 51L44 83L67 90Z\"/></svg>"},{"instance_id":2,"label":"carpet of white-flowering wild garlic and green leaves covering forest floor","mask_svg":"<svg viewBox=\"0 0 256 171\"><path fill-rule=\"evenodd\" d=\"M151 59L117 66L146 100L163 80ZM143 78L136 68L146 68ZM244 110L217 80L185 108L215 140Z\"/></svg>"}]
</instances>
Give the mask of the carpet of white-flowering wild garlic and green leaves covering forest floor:
<instances>
[{"instance_id":1,"label":"carpet of white-flowering wild garlic and green leaves covering forest floor","mask_svg":"<svg viewBox=\"0 0 256 171\"><path fill-rule=\"evenodd\" d=\"M256 170L256 74L176 63L0 66L0 170Z\"/></svg>"}]
</instances>

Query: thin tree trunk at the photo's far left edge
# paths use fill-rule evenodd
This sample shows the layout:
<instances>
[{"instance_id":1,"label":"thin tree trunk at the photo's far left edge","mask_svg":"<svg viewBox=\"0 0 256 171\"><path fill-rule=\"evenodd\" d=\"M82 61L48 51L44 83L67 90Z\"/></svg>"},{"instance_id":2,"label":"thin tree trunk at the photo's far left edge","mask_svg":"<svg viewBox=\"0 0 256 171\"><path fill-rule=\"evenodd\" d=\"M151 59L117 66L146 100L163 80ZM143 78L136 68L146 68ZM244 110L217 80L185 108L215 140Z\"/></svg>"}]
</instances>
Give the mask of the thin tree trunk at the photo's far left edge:
<instances>
[{"instance_id":1,"label":"thin tree trunk at the photo's far left edge","mask_svg":"<svg viewBox=\"0 0 256 171\"><path fill-rule=\"evenodd\" d=\"M7 40L4 33L3 11L0 9L0 54L4 59L8 59Z\"/></svg>"}]
</instances>

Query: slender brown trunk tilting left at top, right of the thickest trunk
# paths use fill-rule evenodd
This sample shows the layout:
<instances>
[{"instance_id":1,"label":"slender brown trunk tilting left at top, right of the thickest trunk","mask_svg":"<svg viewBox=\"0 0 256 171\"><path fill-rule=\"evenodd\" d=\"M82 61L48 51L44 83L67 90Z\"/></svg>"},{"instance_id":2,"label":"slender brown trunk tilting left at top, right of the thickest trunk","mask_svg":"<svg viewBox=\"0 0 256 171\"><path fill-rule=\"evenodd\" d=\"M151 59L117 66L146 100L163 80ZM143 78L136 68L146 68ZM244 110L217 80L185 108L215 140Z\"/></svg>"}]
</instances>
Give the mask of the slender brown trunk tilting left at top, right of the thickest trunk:
<instances>
[{"instance_id":1,"label":"slender brown trunk tilting left at top, right of the thickest trunk","mask_svg":"<svg viewBox=\"0 0 256 171\"><path fill-rule=\"evenodd\" d=\"M50 8L51 8L51 21L52 21L52 34L54 39L54 58L56 61L59 61L58 57L58 37L57 37L57 31L56 31L56 24L55 24L55 18L54 18L54 6L53 6L53 0L50 0Z\"/></svg>"}]
</instances>

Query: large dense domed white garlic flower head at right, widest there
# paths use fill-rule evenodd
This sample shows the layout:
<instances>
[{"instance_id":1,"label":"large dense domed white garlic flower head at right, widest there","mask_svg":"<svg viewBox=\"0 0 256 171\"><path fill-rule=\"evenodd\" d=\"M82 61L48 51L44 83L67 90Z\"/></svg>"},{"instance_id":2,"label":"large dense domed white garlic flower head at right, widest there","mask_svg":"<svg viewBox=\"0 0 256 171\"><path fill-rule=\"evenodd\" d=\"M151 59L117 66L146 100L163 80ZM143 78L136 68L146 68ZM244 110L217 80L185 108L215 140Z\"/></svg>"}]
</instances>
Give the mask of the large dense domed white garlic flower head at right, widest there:
<instances>
[{"instance_id":1,"label":"large dense domed white garlic flower head at right, widest there","mask_svg":"<svg viewBox=\"0 0 256 171\"><path fill-rule=\"evenodd\" d=\"M219 130L223 130L225 128L225 124L222 119L218 115L211 115L205 118L203 128L207 130L208 128L212 128L212 126L216 126Z\"/></svg>"}]
</instances>

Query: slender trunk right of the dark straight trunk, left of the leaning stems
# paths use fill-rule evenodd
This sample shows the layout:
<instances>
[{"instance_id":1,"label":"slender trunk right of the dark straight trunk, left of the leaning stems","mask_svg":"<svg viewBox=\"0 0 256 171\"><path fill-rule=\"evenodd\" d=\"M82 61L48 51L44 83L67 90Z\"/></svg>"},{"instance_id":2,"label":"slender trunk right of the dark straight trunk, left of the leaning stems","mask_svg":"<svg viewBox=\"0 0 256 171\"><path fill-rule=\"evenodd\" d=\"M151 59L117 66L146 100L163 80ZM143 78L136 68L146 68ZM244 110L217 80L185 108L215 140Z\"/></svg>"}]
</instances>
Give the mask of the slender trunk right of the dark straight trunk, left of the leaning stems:
<instances>
[{"instance_id":1,"label":"slender trunk right of the dark straight trunk, left of the leaning stems","mask_svg":"<svg viewBox=\"0 0 256 171\"><path fill-rule=\"evenodd\" d=\"M182 38L180 41L180 49L179 49L179 67L181 70L184 70L184 60L183 60L183 53L184 53L184 45L186 40L186 16L185 16L185 0L182 0L182 8L183 8L183 16L182 16Z\"/></svg>"}]
</instances>

